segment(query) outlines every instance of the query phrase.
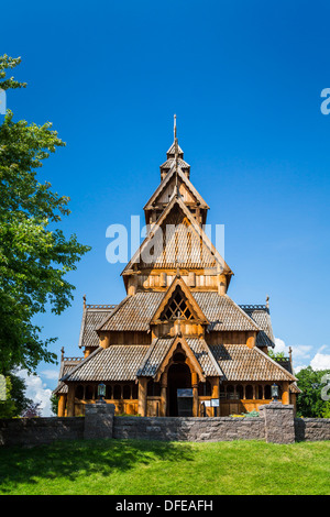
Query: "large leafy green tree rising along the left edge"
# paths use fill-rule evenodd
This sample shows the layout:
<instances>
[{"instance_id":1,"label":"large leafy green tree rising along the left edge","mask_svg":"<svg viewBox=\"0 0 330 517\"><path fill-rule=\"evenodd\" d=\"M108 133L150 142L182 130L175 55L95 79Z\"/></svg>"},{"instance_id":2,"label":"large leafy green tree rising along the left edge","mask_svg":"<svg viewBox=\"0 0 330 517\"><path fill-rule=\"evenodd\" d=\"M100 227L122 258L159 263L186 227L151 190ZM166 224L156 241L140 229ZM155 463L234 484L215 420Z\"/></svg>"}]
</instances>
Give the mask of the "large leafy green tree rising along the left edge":
<instances>
[{"instance_id":1,"label":"large leafy green tree rising along the left edge","mask_svg":"<svg viewBox=\"0 0 330 517\"><path fill-rule=\"evenodd\" d=\"M6 78L20 62L0 57L0 88L25 87ZM69 198L40 183L36 174L64 145L50 122L15 122L8 111L0 125L0 373L56 362L47 349L56 338L42 339L34 317L47 304L56 315L70 305L75 287L65 276L90 250L76 235L65 238L58 222L69 213Z\"/></svg>"}]
</instances>

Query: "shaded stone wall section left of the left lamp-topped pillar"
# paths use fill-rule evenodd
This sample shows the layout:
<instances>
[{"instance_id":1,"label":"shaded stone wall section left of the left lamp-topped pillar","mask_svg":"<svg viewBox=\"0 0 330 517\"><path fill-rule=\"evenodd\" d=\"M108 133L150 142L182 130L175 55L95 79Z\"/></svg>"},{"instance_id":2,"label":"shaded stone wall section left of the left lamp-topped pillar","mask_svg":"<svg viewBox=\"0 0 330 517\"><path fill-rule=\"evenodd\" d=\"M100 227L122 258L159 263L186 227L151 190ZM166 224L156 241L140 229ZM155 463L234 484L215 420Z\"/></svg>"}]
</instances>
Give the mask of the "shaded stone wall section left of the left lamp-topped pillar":
<instances>
[{"instance_id":1,"label":"shaded stone wall section left of the left lamp-topped pillar","mask_svg":"<svg viewBox=\"0 0 330 517\"><path fill-rule=\"evenodd\" d=\"M37 446L54 440L84 438L85 418L12 418L0 419L0 446Z\"/></svg>"}]
</instances>

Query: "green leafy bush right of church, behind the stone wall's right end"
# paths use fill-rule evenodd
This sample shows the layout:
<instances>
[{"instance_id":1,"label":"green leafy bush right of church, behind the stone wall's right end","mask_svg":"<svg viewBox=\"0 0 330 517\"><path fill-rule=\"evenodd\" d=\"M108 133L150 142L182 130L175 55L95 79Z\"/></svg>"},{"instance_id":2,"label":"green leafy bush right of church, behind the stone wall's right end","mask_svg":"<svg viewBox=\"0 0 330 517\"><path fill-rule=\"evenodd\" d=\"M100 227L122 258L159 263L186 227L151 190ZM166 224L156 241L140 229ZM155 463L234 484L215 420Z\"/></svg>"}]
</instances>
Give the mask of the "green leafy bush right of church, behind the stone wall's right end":
<instances>
[{"instance_id":1,"label":"green leafy bush right of church, behind the stone wall's right end","mask_svg":"<svg viewBox=\"0 0 330 517\"><path fill-rule=\"evenodd\" d=\"M329 418L324 417L324 413L329 414L329 402L321 398L321 391L324 387L321 378L327 373L330 374L330 370L316 372L311 366L308 366L296 374L298 387L302 391L297 396L297 416Z\"/></svg>"}]
</instances>

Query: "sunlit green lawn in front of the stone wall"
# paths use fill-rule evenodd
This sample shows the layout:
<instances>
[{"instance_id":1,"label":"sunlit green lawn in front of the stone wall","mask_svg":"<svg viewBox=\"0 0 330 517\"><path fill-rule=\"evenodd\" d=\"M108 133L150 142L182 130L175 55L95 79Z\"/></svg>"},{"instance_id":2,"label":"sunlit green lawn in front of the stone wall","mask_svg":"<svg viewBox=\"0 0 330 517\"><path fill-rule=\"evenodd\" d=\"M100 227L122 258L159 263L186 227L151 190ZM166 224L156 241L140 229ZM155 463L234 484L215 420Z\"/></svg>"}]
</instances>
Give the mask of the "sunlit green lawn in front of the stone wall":
<instances>
[{"instance_id":1,"label":"sunlit green lawn in front of the stone wall","mask_svg":"<svg viewBox=\"0 0 330 517\"><path fill-rule=\"evenodd\" d=\"M0 494L330 494L330 442L100 440L0 448Z\"/></svg>"}]
</instances>

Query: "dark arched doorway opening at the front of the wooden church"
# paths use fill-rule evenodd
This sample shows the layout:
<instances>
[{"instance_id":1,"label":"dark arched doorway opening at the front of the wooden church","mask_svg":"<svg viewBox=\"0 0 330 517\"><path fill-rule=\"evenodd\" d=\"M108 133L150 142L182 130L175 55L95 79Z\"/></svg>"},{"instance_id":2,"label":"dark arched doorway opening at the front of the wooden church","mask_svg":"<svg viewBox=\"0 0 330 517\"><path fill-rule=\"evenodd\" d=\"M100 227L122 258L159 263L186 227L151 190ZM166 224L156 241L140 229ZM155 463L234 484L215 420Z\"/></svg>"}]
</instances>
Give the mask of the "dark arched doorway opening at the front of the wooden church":
<instances>
[{"instance_id":1,"label":"dark arched doorway opening at the front of the wooden church","mask_svg":"<svg viewBox=\"0 0 330 517\"><path fill-rule=\"evenodd\" d=\"M178 392L184 388L186 391L191 388L191 374L189 366L185 362L179 361L172 364L167 373L167 416L193 416L193 397L189 396L188 391L188 397L180 397L183 392Z\"/></svg>"}]
</instances>

